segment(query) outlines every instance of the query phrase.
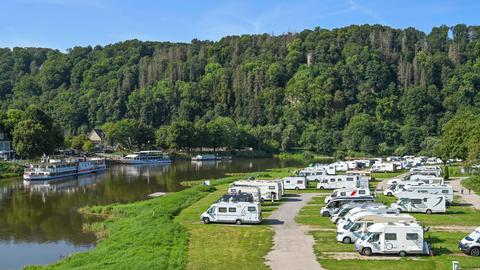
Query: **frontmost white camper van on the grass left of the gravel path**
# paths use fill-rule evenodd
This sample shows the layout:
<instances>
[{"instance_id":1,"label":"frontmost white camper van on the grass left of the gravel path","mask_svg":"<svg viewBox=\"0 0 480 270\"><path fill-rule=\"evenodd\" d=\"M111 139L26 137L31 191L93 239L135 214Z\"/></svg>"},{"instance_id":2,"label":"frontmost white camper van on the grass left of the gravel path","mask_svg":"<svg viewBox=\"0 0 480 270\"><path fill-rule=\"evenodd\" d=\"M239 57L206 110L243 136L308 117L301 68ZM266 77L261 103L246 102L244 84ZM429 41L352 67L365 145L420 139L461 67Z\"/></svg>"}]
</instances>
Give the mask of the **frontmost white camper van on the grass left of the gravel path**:
<instances>
[{"instance_id":1,"label":"frontmost white camper van on the grass left of the gravel path","mask_svg":"<svg viewBox=\"0 0 480 270\"><path fill-rule=\"evenodd\" d=\"M258 224L262 222L262 210L259 203L251 202L218 202L203 212L200 219L205 223L244 223Z\"/></svg>"}]
</instances>

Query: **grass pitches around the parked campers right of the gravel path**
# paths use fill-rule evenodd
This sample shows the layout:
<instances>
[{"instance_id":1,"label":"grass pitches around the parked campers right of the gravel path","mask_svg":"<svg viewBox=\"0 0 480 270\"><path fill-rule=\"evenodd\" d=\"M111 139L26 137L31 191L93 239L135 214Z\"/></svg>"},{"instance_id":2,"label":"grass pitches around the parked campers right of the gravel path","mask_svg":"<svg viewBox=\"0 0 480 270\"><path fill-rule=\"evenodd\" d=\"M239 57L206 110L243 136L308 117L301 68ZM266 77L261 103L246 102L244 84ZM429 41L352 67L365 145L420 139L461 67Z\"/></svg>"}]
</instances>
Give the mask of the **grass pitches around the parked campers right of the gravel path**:
<instances>
[{"instance_id":1,"label":"grass pitches around the parked campers right of the gravel path","mask_svg":"<svg viewBox=\"0 0 480 270\"><path fill-rule=\"evenodd\" d=\"M464 232L428 232L425 238L433 247L436 256L409 256L399 260L392 260L388 257L382 259L353 259L355 249L353 245L345 245L336 241L336 232L325 230L335 229L335 225L327 217L321 217L320 208L323 206L323 196L315 197L311 203L302 208L296 217L297 222L311 225L311 234L315 239L314 252L323 268L329 270L351 270L351 269L451 269L452 261L460 262L461 269L478 269L480 258L465 256L457 248L457 243L468 233ZM391 203L396 201L395 197L387 197L377 194L377 201ZM435 225L480 225L480 211L468 206L452 206L448 208L447 214L414 214L417 220L425 226ZM322 230L320 230L322 229ZM348 258L336 257L339 254L350 254Z\"/></svg>"}]
</instances>

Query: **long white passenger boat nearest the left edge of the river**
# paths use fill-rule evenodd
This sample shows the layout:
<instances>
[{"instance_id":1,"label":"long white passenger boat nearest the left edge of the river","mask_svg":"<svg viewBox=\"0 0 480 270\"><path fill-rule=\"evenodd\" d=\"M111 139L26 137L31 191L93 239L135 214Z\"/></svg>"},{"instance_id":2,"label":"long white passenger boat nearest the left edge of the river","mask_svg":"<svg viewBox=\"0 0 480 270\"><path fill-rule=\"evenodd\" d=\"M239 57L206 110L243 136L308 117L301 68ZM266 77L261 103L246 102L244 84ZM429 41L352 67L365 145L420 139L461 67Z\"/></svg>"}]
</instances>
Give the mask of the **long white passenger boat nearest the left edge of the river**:
<instances>
[{"instance_id":1,"label":"long white passenger boat nearest the left edge of the river","mask_svg":"<svg viewBox=\"0 0 480 270\"><path fill-rule=\"evenodd\" d=\"M23 173L25 181L47 181L88 173L96 173L106 169L103 158L67 158L50 159L44 156L40 163L30 164Z\"/></svg>"}]
</instances>

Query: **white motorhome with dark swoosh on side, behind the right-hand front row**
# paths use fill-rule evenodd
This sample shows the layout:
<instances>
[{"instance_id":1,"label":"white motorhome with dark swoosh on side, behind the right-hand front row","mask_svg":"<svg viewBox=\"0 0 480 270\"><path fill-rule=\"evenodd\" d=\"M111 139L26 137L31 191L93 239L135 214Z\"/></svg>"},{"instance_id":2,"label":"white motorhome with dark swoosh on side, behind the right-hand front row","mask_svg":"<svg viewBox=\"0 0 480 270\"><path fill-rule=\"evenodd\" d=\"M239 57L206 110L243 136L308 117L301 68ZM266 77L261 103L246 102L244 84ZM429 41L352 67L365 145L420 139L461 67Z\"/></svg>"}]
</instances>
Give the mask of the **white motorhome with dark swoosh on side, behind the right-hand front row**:
<instances>
[{"instance_id":1,"label":"white motorhome with dark swoosh on side, behind the right-hand front row","mask_svg":"<svg viewBox=\"0 0 480 270\"><path fill-rule=\"evenodd\" d=\"M409 197L400 197L396 203L392 203L392 208L397 208L401 212L417 213L445 213L447 211L446 199L442 195L436 194L408 194Z\"/></svg>"}]
</instances>

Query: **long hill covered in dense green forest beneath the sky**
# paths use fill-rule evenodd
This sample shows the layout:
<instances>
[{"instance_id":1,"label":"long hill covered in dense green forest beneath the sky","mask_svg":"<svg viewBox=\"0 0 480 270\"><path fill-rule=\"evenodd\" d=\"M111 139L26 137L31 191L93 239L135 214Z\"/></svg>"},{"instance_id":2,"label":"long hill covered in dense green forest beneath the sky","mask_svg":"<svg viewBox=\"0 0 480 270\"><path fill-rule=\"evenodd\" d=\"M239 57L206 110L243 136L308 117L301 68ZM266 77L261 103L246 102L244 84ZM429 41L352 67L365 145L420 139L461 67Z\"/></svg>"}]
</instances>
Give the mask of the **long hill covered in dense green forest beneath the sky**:
<instances>
[{"instance_id":1,"label":"long hill covered in dense green forest beneath the sky","mask_svg":"<svg viewBox=\"0 0 480 270\"><path fill-rule=\"evenodd\" d=\"M229 117L267 149L430 153L447 121L479 106L479 56L480 27L462 24L4 48L0 102L35 104L70 134L124 118L157 129Z\"/></svg>"}]
</instances>

